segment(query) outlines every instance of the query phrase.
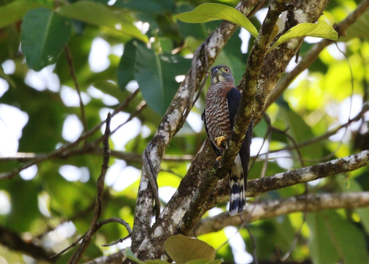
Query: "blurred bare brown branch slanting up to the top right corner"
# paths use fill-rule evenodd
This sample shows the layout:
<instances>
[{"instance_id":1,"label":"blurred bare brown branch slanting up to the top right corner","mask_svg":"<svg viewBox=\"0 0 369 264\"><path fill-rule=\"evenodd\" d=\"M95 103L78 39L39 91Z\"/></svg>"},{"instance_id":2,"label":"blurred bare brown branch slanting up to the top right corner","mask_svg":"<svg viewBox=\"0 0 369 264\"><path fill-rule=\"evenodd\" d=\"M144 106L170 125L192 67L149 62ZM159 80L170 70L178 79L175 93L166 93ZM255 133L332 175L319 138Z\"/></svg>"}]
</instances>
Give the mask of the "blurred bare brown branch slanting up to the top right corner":
<instances>
[{"instance_id":1,"label":"blurred bare brown branch slanting up to the top right corner","mask_svg":"<svg viewBox=\"0 0 369 264\"><path fill-rule=\"evenodd\" d=\"M369 7L369 0L362 1L356 9L349 14L344 20L334 25L335 31L338 32L338 36L345 35L346 29L354 23ZM339 41L339 39L338 39ZM312 49L300 60L299 64L292 71L290 71L286 76L280 80L276 88L270 95L268 102L266 103L266 108L277 100L277 98L282 95L283 91L287 89L288 85L297 77L303 70L308 68L318 57L319 53L328 45L334 41L330 39L322 39L319 43L315 44Z\"/></svg>"}]
</instances>

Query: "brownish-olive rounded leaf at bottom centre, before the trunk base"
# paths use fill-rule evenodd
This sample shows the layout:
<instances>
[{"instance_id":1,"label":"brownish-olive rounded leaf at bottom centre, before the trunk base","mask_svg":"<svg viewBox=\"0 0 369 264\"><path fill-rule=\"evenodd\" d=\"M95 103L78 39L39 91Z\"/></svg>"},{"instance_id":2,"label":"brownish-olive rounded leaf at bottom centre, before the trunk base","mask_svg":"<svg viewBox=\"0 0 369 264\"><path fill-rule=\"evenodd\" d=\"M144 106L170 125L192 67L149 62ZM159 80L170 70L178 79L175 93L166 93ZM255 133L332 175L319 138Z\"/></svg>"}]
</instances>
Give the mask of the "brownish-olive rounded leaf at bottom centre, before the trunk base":
<instances>
[{"instance_id":1,"label":"brownish-olive rounded leaf at bottom centre, before the trunk base","mask_svg":"<svg viewBox=\"0 0 369 264\"><path fill-rule=\"evenodd\" d=\"M176 263L203 259L214 261L215 249L204 241L183 235L170 236L164 249Z\"/></svg>"}]
</instances>

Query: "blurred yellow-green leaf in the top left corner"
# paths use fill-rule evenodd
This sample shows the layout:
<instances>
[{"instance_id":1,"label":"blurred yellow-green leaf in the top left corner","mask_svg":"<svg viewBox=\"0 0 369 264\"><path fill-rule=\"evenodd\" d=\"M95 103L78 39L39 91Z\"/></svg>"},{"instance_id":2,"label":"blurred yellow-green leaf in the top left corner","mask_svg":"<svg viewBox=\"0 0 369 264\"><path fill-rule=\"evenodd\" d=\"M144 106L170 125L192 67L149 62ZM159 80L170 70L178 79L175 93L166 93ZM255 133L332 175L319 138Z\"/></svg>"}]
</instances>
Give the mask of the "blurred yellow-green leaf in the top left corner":
<instances>
[{"instance_id":1,"label":"blurred yellow-green leaf in the top left corner","mask_svg":"<svg viewBox=\"0 0 369 264\"><path fill-rule=\"evenodd\" d=\"M0 7L0 28L21 20L29 10L42 6L44 4L37 1L15 0Z\"/></svg>"}]
</instances>

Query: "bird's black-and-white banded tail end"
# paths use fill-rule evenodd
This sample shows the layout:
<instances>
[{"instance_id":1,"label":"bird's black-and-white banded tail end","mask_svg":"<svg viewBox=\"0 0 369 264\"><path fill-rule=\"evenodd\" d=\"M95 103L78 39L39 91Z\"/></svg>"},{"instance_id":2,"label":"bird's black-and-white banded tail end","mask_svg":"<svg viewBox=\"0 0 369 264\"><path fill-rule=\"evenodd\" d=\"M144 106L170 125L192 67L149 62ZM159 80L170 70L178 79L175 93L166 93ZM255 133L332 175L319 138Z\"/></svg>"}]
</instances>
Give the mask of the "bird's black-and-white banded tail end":
<instances>
[{"instance_id":1,"label":"bird's black-and-white banded tail end","mask_svg":"<svg viewBox=\"0 0 369 264\"><path fill-rule=\"evenodd\" d=\"M246 207L244 174L238 177L230 172L230 177L230 215L241 214Z\"/></svg>"}]
</instances>

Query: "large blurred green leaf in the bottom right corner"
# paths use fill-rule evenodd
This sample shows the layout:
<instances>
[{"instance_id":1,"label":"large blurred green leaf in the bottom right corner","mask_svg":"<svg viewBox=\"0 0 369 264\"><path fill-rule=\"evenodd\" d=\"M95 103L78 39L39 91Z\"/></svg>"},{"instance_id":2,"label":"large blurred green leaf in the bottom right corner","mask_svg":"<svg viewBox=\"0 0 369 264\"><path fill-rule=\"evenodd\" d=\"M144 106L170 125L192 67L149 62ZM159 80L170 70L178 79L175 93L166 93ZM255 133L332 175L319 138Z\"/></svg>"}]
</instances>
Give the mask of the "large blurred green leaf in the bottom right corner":
<instances>
[{"instance_id":1,"label":"large blurred green leaf in the bottom right corner","mask_svg":"<svg viewBox=\"0 0 369 264\"><path fill-rule=\"evenodd\" d=\"M335 211L308 214L310 255L314 264L367 264L363 234Z\"/></svg>"}]
</instances>

